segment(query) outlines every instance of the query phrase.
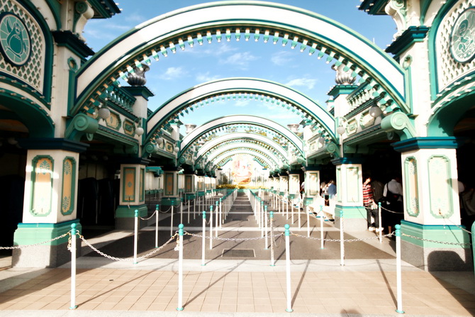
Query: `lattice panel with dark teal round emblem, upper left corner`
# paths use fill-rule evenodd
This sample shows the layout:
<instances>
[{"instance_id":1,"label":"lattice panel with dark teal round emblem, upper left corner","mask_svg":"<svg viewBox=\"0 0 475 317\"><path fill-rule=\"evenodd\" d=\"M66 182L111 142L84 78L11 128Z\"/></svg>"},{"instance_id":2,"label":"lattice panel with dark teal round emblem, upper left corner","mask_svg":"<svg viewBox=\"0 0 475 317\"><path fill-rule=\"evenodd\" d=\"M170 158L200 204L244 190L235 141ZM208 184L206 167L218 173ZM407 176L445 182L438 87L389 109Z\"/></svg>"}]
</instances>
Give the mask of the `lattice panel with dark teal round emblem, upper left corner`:
<instances>
[{"instance_id":1,"label":"lattice panel with dark teal round emblem, upper left corner","mask_svg":"<svg viewBox=\"0 0 475 317\"><path fill-rule=\"evenodd\" d=\"M43 93L45 37L17 1L0 1L0 70Z\"/></svg>"}]
</instances>

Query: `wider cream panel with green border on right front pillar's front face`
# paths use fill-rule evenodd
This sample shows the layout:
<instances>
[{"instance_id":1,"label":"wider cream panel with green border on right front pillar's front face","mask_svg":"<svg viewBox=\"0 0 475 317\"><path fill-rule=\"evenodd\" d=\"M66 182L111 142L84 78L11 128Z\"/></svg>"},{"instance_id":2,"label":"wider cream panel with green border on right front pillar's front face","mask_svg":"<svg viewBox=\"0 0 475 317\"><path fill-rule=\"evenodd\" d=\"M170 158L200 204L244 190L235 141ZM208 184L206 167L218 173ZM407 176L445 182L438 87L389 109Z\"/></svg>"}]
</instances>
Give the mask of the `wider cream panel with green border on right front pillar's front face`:
<instances>
[{"instance_id":1,"label":"wider cream panel with green border on right front pillar's front face","mask_svg":"<svg viewBox=\"0 0 475 317\"><path fill-rule=\"evenodd\" d=\"M452 177L450 160L445 155L434 155L429 158L429 194L430 213L435 218L452 216Z\"/></svg>"}]
</instances>

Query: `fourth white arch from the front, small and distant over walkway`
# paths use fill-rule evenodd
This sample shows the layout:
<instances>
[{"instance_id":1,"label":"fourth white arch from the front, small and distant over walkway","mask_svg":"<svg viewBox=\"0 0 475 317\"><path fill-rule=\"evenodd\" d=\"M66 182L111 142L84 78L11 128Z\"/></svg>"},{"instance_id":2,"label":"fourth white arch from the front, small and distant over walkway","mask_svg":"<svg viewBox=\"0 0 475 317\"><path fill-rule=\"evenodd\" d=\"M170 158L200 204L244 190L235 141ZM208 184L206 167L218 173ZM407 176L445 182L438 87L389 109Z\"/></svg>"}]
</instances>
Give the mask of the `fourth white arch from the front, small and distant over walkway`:
<instances>
[{"instance_id":1,"label":"fourth white arch from the front, small and distant over walkway","mask_svg":"<svg viewBox=\"0 0 475 317\"><path fill-rule=\"evenodd\" d=\"M208 144L209 143L209 144ZM223 152L228 145L233 145L235 148L243 145L258 145L261 150L269 154L279 157L278 160L288 162L289 157L286 150L276 143L262 135L249 135L249 133L231 133L223 135L219 138L211 140L210 142L199 148L196 154L196 161L201 160L203 156L213 155L214 152Z\"/></svg>"}]
</instances>

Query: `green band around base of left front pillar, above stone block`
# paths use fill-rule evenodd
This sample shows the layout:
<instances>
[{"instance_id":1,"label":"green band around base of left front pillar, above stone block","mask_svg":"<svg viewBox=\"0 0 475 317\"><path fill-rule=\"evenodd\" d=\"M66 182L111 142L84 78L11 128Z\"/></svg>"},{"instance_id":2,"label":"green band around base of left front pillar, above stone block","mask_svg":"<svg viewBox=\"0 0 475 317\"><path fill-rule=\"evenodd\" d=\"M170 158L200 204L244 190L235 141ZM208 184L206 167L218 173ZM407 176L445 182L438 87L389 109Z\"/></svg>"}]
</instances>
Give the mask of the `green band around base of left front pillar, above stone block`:
<instances>
[{"instance_id":1,"label":"green band around base of left front pillar, above stone block","mask_svg":"<svg viewBox=\"0 0 475 317\"><path fill-rule=\"evenodd\" d=\"M18 223L18 228L13 235L13 245L33 245L51 240L70 231L72 223L77 223L76 229L81 233L82 226L79 219L62 223ZM67 243L68 238L69 235L42 245L62 245Z\"/></svg>"}]
</instances>

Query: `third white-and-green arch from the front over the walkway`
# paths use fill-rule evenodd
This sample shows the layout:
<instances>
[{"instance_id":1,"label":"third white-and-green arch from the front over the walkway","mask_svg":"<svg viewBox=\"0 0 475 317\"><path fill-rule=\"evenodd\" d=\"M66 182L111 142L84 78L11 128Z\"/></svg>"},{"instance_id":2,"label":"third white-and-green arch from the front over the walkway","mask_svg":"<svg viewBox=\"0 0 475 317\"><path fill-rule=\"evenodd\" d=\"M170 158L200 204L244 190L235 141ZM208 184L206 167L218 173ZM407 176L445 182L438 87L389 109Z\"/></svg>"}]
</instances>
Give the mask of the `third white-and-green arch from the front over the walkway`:
<instances>
[{"instance_id":1,"label":"third white-and-green arch from the front over the walkway","mask_svg":"<svg viewBox=\"0 0 475 317\"><path fill-rule=\"evenodd\" d=\"M202 135L206 133L213 133L220 128L232 127L232 126L255 126L257 128L263 128L271 131L278 135L278 138L285 138L286 142L291 143L299 152L303 153L303 141L301 138L298 138L297 135L292 133L289 129L284 126L281 126L279 123L275 123L266 118L260 118L258 116L246 116L246 115L235 115L235 116L224 116L216 118L212 121L204 123L202 126L195 128L191 133L186 135L183 140L181 140L180 152L185 152L190 146L195 145L201 138ZM249 138L250 133L242 135ZM257 135L259 138L266 138L263 135ZM203 146L203 149L211 148L216 145L216 142L220 141L210 141ZM262 140L264 142L264 140Z\"/></svg>"}]
</instances>

